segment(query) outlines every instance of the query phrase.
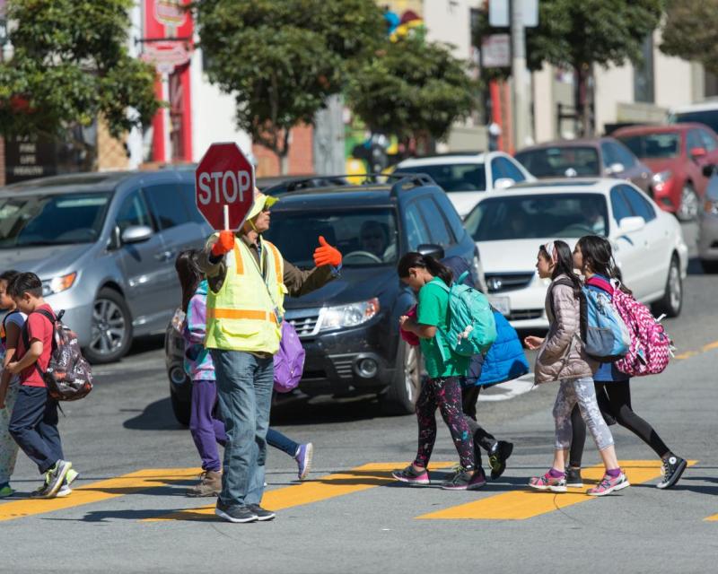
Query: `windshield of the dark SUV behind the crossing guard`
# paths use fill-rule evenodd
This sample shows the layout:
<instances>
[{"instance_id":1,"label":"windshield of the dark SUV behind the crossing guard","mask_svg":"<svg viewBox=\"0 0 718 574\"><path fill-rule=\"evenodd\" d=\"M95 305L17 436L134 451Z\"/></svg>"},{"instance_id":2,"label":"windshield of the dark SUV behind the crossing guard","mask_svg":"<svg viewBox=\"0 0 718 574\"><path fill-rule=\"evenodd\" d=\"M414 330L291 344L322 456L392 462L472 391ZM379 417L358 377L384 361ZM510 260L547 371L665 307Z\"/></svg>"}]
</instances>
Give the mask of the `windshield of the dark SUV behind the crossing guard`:
<instances>
[{"instance_id":1,"label":"windshield of the dark SUV behind the crossing guard","mask_svg":"<svg viewBox=\"0 0 718 574\"><path fill-rule=\"evenodd\" d=\"M397 219L393 209L321 211L277 210L264 233L294 265L314 266L318 238L342 252L342 265L395 265L398 259Z\"/></svg>"}]
</instances>

